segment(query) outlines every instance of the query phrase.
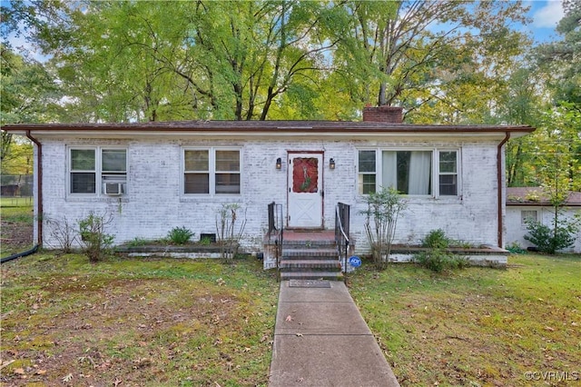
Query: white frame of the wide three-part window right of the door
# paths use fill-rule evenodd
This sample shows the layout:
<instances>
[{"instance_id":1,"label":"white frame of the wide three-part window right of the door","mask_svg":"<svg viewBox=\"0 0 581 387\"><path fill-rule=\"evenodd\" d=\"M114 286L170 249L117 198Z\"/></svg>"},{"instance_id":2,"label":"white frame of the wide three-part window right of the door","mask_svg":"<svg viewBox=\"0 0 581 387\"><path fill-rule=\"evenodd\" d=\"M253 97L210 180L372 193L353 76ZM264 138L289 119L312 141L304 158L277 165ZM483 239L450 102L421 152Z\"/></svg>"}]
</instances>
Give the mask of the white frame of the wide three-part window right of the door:
<instances>
[{"instance_id":1,"label":"white frame of the wide three-part window right of the door","mask_svg":"<svg viewBox=\"0 0 581 387\"><path fill-rule=\"evenodd\" d=\"M406 194L407 197L418 197L418 198L458 198L462 196L462 182L461 182L461 151L459 148L432 148L432 147L361 147L357 148L357 176L356 176L356 190L359 196L366 196L367 193L361 193L361 185L359 184L359 176L362 174L372 174L368 172L359 172L359 152L361 151L374 151L375 152L375 192L378 192L379 187L382 185L382 154L384 151L387 152L431 152L431 193L430 194ZM456 173L441 173L445 174L455 174L457 176L457 194L455 195L441 195L439 193L439 154L443 152L456 152Z\"/></svg>"}]
</instances>

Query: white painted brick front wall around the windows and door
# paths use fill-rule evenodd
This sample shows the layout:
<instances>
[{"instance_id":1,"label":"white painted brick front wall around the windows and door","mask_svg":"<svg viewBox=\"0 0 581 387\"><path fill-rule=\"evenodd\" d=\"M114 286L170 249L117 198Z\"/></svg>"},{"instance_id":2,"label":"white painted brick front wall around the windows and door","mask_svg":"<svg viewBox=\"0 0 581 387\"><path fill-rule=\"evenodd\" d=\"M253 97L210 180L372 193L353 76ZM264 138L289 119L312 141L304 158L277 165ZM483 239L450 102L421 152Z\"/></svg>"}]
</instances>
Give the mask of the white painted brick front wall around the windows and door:
<instances>
[{"instance_id":1,"label":"white painted brick front wall around the windows and door","mask_svg":"<svg viewBox=\"0 0 581 387\"><path fill-rule=\"evenodd\" d=\"M136 237L165 236L173 227L185 226L199 238L215 233L216 212L224 203L239 203L246 210L243 244L261 251L268 227L267 206L283 203L286 216L287 151L324 152L324 224L334 227L335 204L351 205L351 235L357 253L367 253L363 216L365 201L357 194L357 150L362 146L428 146L461 148L461 198L409 199L397 230L397 243L419 243L429 231L442 228L448 236L474 244L497 243L497 143L428 142L378 143L364 141L261 140L188 142L180 140L79 140L41 139L44 154L44 243L56 247L51 223L66 217L76 222L88 213L108 213L107 230L115 243ZM129 164L127 193L116 197L78 198L67 194L67 145L123 145ZM182 149L187 146L240 146L242 154L241 195L230 197L186 197L182 195ZM281 157L282 169L276 170ZM330 170L329 159L336 168Z\"/></svg>"}]
</instances>

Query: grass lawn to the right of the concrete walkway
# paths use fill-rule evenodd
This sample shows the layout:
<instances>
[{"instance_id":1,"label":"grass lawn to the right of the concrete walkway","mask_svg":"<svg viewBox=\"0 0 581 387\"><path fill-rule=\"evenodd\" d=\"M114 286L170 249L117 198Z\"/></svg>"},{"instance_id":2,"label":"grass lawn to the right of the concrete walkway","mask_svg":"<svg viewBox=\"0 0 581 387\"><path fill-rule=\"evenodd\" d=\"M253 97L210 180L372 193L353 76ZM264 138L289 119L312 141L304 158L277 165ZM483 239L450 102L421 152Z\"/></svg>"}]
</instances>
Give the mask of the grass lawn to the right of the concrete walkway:
<instances>
[{"instance_id":1,"label":"grass lawn to the right of the concrete walkway","mask_svg":"<svg viewBox=\"0 0 581 387\"><path fill-rule=\"evenodd\" d=\"M525 372L581 380L580 273L578 254L448 274L364 266L350 293L402 386L525 386Z\"/></svg>"}]
</instances>

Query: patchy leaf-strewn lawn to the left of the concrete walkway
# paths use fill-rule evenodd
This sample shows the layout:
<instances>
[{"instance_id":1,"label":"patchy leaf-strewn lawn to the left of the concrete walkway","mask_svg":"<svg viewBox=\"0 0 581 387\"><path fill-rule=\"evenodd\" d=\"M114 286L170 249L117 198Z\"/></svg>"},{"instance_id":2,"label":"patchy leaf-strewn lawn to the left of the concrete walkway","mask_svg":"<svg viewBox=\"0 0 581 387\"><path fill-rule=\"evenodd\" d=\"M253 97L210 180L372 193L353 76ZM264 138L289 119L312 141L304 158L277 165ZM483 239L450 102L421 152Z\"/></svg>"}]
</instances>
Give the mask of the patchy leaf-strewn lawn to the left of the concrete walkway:
<instances>
[{"instance_id":1,"label":"patchy leaf-strewn lawn to the left of the concrete walkway","mask_svg":"<svg viewBox=\"0 0 581 387\"><path fill-rule=\"evenodd\" d=\"M6 385L266 385L278 283L253 259L2 265Z\"/></svg>"}]
</instances>

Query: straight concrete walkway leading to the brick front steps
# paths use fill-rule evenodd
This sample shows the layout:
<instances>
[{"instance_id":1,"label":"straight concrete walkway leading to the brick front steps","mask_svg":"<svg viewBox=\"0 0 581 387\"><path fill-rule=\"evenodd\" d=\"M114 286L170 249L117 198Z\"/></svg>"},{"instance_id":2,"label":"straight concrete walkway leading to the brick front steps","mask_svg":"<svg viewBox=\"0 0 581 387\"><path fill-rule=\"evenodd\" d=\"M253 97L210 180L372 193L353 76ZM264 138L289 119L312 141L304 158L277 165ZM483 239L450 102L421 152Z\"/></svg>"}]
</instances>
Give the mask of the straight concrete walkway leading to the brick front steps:
<instances>
[{"instance_id":1,"label":"straight concrete walkway leading to the brick front steps","mask_svg":"<svg viewBox=\"0 0 581 387\"><path fill-rule=\"evenodd\" d=\"M269 386L295 385L399 386L344 283L281 282Z\"/></svg>"}]
</instances>

